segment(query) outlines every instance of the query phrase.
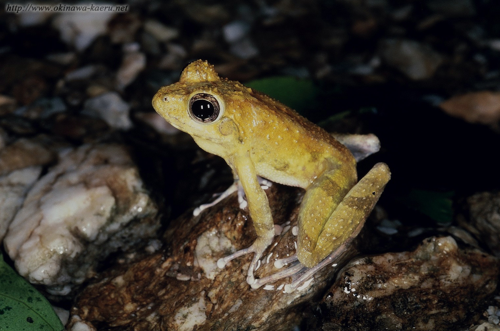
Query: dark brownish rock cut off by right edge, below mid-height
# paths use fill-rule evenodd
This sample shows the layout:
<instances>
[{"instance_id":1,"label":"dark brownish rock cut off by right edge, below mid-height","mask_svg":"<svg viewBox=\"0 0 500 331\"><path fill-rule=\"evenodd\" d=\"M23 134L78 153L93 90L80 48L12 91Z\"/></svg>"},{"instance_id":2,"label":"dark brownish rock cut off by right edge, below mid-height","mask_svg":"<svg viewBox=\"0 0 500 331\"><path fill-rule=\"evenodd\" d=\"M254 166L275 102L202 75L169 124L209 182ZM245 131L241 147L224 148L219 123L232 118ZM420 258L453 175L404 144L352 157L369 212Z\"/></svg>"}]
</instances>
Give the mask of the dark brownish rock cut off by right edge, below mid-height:
<instances>
[{"instance_id":1,"label":"dark brownish rock cut off by right edge, below mid-height","mask_svg":"<svg viewBox=\"0 0 500 331\"><path fill-rule=\"evenodd\" d=\"M467 198L468 220L459 225L500 257L500 193L481 192Z\"/></svg>"}]
</instances>

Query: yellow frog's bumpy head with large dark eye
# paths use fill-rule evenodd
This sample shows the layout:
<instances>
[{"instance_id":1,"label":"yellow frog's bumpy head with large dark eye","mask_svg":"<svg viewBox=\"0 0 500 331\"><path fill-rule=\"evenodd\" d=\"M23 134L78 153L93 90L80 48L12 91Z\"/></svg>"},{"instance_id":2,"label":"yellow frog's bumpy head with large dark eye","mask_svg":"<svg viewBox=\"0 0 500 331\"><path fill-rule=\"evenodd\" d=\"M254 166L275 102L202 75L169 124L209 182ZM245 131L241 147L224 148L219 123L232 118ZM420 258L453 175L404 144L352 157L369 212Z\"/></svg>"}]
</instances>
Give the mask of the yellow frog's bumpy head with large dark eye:
<instances>
[{"instance_id":1,"label":"yellow frog's bumpy head with large dark eye","mask_svg":"<svg viewBox=\"0 0 500 331\"><path fill-rule=\"evenodd\" d=\"M237 86L235 85L237 84ZM154 95L154 110L167 122L191 136L220 141L237 131L232 119L224 117L228 91L244 88L220 79L206 61L189 63L177 83L164 86Z\"/></svg>"}]
</instances>

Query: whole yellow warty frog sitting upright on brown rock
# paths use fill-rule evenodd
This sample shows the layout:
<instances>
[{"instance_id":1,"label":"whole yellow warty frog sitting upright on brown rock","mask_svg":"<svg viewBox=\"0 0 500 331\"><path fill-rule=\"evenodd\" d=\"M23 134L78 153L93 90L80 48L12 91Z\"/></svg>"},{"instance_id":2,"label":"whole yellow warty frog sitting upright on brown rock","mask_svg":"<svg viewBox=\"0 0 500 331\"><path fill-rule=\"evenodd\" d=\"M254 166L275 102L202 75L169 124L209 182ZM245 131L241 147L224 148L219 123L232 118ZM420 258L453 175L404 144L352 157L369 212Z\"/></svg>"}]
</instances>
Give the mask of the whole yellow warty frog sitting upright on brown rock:
<instances>
[{"instance_id":1,"label":"whole yellow warty frog sitting upright on brown rock","mask_svg":"<svg viewBox=\"0 0 500 331\"><path fill-rule=\"evenodd\" d=\"M379 162L358 181L356 160L332 135L279 101L219 77L207 61L186 65L178 82L158 90L152 106L231 168L235 184L222 197L240 188L256 239L249 247L220 258L217 266L223 268L253 253L246 272L252 288L292 277L285 286L291 292L334 260L358 235L390 179L388 166ZM300 187L305 193L298 212L295 254L274 265L298 263L255 278L257 263L279 232L262 179Z\"/></svg>"}]
</instances>

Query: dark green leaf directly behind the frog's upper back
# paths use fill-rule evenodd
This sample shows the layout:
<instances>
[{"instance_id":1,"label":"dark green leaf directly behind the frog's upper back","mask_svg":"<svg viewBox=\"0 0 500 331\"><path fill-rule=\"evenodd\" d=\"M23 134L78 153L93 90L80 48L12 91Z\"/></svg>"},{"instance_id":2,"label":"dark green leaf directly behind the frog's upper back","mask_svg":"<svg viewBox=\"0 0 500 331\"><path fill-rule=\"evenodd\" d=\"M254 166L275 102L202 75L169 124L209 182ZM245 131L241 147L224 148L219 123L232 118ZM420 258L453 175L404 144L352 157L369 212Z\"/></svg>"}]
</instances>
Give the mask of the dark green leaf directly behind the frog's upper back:
<instances>
[{"instance_id":1,"label":"dark green leaf directly behind the frog's upper back","mask_svg":"<svg viewBox=\"0 0 500 331\"><path fill-rule=\"evenodd\" d=\"M311 80L293 76L262 78L247 82L245 85L267 94L299 113L315 106L318 93Z\"/></svg>"}]
</instances>

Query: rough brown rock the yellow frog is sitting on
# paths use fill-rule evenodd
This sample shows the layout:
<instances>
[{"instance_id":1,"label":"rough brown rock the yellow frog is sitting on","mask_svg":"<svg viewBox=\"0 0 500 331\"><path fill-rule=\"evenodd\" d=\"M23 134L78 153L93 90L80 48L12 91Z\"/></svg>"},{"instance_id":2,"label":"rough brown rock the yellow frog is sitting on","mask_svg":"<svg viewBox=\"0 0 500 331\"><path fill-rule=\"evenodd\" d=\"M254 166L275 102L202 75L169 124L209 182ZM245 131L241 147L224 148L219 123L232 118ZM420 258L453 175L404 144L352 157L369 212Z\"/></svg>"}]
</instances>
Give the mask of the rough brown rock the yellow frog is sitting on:
<instances>
[{"instance_id":1,"label":"rough brown rock the yellow frog is sitting on","mask_svg":"<svg viewBox=\"0 0 500 331\"><path fill-rule=\"evenodd\" d=\"M272 185L266 193L274 222L282 224L283 231L264 252L258 277L276 272L274 260L295 249L293 226L302 193L278 186ZM254 239L248 211L239 209L235 194L198 216L188 211L166 230L166 250L108 270L86 287L71 309L67 327L289 330L303 318L310 300L327 286L325 280L336 268L321 270L311 283L292 293L282 290L289 279L251 289L245 280L251 254L223 269L217 268L216 261ZM341 265L352 253L337 263Z\"/></svg>"}]
</instances>

